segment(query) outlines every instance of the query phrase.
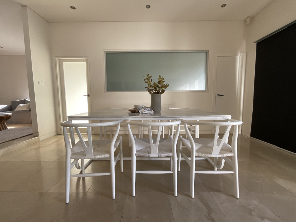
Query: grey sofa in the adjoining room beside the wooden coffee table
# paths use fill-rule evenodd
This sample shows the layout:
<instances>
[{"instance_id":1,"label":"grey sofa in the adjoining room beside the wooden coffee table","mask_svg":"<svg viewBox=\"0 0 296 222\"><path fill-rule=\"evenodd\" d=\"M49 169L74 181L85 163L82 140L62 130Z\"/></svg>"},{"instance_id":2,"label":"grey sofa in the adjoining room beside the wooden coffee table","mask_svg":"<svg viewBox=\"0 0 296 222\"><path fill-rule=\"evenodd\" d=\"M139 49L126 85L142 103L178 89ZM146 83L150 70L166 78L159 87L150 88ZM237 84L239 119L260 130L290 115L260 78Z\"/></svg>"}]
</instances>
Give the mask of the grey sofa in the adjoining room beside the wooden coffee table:
<instances>
[{"instance_id":1,"label":"grey sofa in the adjoining room beside the wooden coffee table","mask_svg":"<svg viewBox=\"0 0 296 222\"><path fill-rule=\"evenodd\" d=\"M25 100L25 101L24 101ZM23 101L23 102L19 102ZM9 120L6 121L7 124L32 124L31 110L28 111L15 111L15 106L18 104L28 104L30 100L23 99L17 101L12 101L10 105L0 105L0 113L12 113Z\"/></svg>"}]
</instances>

